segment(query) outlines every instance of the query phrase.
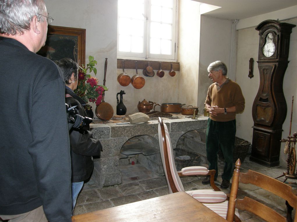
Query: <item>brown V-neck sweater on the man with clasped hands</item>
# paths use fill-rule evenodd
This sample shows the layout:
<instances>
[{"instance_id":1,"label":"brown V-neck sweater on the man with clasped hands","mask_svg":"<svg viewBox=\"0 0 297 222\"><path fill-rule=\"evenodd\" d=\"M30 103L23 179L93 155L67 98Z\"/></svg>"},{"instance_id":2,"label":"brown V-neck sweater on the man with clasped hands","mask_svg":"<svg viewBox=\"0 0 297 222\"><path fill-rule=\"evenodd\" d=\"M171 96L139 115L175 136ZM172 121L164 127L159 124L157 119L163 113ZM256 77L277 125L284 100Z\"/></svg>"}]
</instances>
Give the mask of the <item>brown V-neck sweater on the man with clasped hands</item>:
<instances>
[{"instance_id":1,"label":"brown V-neck sweater on the man with clasped hands","mask_svg":"<svg viewBox=\"0 0 297 222\"><path fill-rule=\"evenodd\" d=\"M235 120L236 113L241 113L244 110L244 97L240 86L229 79L228 83L224 84L219 90L216 83L209 86L206 100L204 104L210 106L218 106L219 108L236 107L236 112L227 114L220 113L217 116L211 115L209 118L214 121L226 122Z\"/></svg>"}]
</instances>

